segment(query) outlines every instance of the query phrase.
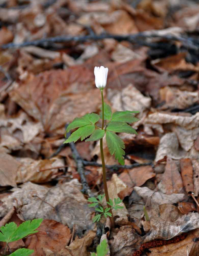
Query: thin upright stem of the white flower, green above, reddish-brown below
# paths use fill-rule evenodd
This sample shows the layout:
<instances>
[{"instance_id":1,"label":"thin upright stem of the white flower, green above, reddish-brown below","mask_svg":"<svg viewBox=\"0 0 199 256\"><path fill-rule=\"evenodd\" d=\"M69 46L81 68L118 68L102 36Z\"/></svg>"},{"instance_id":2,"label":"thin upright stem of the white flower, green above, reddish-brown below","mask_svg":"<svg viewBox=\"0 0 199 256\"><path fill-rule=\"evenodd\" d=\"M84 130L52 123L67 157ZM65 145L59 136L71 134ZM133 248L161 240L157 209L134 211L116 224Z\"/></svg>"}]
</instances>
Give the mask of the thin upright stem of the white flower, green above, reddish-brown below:
<instances>
[{"instance_id":1,"label":"thin upright stem of the white flower, green above, reddish-brown below","mask_svg":"<svg viewBox=\"0 0 199 256\"><path fill-rule=\"evenodd\" d=\"M104 99L103 99L103 89L101 89L102 93L102 130L104 130ZM101 159L102 159L102 173L103 173L103 182L104 182L104 192L106 201L109 202L109 193L108 193L108 187L107 187L107 176L106 176L106 168L105 168L105 161L104 161L104 152L103 152L103 139L100 139L100 152L101 152ZM109 207L107 205L107 207ZM113 213L112 209L109 210L111 213L111 217L109 217L111 221L111 227L114 228L114 220L113 220Z\"/></svg>"}]
</instances>

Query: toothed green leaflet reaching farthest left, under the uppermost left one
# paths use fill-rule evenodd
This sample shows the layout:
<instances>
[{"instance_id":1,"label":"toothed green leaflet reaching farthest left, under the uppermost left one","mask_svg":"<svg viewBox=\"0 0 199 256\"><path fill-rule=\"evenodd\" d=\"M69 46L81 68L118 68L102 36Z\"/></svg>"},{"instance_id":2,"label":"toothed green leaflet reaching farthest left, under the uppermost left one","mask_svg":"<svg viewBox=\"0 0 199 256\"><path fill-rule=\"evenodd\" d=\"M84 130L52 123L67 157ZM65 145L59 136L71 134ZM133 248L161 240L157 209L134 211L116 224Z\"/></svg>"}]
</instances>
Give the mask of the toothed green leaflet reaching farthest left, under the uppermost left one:
<instances>
[{"instance_id":1,"label":"toothed green leaflet reaching farthest left, under the uppermost left one","mask_svg":"<svg viewBox=\"0 0 199 256\"><path fill-rule=\"evenodd\" d=\"M88 137L95 130L95 125L89 124L78 128L64 143L76 142L80 137L81 141Z\"/></svg>"}]
</instances>

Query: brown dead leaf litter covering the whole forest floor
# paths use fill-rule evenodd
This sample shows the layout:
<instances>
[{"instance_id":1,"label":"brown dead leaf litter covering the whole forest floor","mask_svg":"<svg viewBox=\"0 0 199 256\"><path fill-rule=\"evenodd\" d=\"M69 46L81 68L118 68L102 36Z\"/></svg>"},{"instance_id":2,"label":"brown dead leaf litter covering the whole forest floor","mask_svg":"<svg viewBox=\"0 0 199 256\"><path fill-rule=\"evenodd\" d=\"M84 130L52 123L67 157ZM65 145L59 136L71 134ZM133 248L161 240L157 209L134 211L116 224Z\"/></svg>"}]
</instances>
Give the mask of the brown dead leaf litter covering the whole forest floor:
<instances>
[{"instance_id":1,"label":"brown dead leaf litter covering the whole forest floor","mask_svg":"<svg viewBox=\"0 0 199 256\"><path fill-rule=\"evenodd\" d=\"M64 140L66 123L100 113L93 68L103 65L109 68L104 101L114 111L140 112L132 125L138 135L118 134L125 141L127 167L117 165L104 143L105 162L112 166L109 193L124 206L114 212L114 230L102 223L110 255L132 255L145 242L151 243L148 255L198 255L198 206L190 194L198 201L198 4L58 0L22 1L19 8L16 1L3 2L1 46L43 35L76 36L67 43L2 48L0 54L1 218L17 225L21 219L44 219L40 233L10 249L20 245L34 249L35 256L75 256L90 255L99 244L95 212L81 193L71 150L67 146L50 156ZM93 33L135 34L135 41L78 40ZM93 161L85 163L85 176L97 195L103 189L102 169L94 164L100 164L99 143L77 141L77 149L84 161ZM183 232L188 235L182 241L162 242ZM163 245L152 246L154 239L154 245Z\"/></svg>"}]
</instances>

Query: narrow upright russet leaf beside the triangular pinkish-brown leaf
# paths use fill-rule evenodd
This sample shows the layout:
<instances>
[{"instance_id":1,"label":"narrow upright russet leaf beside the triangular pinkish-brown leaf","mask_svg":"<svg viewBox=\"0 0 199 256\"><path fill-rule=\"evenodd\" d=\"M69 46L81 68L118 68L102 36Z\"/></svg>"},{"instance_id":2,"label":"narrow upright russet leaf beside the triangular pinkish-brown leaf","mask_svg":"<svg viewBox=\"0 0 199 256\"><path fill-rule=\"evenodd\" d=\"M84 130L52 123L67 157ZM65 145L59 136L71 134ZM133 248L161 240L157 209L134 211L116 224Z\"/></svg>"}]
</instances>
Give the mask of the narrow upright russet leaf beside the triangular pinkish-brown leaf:
<instances>
[{"instance_id":1,"label":"narrow upright russet leaf beside the triangular pinkish-brown leaf","mask_svg":"<svg viewBox=\"0 0 199 256\"><path fill-rule=\"evenodd\" d=\"M180 173L187 193L194 193L193 167L189 158L180 159Z\"/></svg>"}]
</instances>

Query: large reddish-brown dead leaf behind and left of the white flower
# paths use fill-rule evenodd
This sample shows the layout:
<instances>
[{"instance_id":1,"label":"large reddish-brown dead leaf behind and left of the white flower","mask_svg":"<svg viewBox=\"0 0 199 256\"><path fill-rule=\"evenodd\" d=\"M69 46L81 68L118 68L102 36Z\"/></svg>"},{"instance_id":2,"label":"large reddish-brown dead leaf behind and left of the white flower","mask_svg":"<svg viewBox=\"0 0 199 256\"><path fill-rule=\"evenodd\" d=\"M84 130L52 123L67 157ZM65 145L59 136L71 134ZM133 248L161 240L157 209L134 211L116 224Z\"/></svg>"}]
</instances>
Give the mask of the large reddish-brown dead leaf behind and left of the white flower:
<instances>
[{"instance_id":1,"label":"large reddish-brown dead leaf behind and left of the white flower","mask_svg":"<svg viewBox=\"0 0 199 256\"><path fill-rule=\"evenodd\" d=\"M46 131L52 131L76 116L99 109L101 95L96 88L92 89L93 81L93 71L82 66L51 70L24 82L10 95ZM86 98L89 100L85 101Z\"/></svg>"}]
</instances>

